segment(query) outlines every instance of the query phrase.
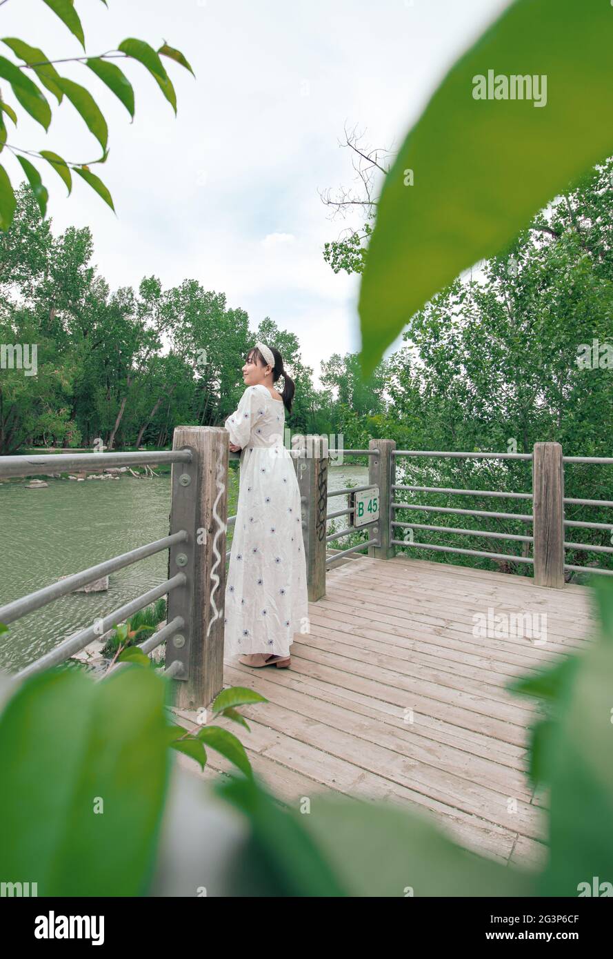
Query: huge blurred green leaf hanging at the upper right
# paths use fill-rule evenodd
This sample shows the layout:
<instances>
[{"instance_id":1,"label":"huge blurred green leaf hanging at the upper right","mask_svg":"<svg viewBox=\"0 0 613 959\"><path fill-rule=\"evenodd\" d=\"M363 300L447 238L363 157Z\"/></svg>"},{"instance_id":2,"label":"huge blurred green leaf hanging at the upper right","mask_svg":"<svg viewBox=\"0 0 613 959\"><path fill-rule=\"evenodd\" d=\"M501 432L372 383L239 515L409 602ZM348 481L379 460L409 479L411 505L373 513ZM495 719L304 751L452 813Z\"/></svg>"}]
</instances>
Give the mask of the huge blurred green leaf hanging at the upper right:
<instances>
[{"instance_id":1,"label":"huge blurred green leaf hanging at the upper right","mask_svg":"<svg viewBox=\"0 0 613 959\"><path fill-rule=\"evenodd\" d=\"M611 152L612 44L607 3L518 0L451 68L383 184L359 299L365 376L436 292ZM546 105L474 99L490 68L546 77Z\"/></svg>"}]
</instances>

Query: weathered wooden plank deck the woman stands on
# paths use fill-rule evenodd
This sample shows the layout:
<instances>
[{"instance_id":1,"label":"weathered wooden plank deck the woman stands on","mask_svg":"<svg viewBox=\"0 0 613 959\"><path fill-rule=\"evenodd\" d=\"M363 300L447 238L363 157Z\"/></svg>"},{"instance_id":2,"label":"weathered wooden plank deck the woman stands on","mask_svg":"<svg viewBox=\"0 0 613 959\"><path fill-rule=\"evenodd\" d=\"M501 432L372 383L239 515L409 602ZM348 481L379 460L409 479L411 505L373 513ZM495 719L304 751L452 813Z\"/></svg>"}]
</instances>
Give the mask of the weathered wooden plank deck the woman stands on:
<instances>
[{"instance_id":1,"label":"weathered wooden plank deck the woman stands on","mask_svg":"<svg viewBox=\"0 0 613 959\"><path fill-rule=\"evenodd\" d=\"M473 615L488 609L546 614L546 643L475 637ZM588 591L360 556L329 571L309 614L291 668L225 666L226 685L269 700L241 709L250 734L221 723L238 733L256 774L288 805L329 789L385 800L432 817L466 849L539 865L546 797L525 775L534 706L505 684L584 644ZM194 713L177 720L191 726ZM212 751L209 760L205 778L229 768Z\"/></svg>"}]
</instances>

